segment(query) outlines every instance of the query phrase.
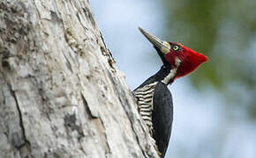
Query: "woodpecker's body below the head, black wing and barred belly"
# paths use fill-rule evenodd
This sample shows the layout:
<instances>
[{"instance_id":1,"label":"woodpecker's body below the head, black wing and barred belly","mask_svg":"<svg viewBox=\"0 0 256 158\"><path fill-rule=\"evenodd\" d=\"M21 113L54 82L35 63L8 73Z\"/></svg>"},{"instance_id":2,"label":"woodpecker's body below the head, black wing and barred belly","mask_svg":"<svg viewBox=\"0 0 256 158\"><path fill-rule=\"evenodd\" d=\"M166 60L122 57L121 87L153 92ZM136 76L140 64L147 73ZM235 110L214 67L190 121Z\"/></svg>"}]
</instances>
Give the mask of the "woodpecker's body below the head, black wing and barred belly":
<instances>
[{"instance_id":1,"label":"woodpecker's body below the head, black wing and barred belly","mask_svg":"<svg viewBox=\"0 0 256 158\"><path fill-rule=\"evenodd\" d=\"M171 65L163 58L161 51L157 47L154 48L162 59L162 68L139 85L134 90L134 95L138 100L139 113L145 120L163 158L169 144L173 119L172 97L167 87L169 83L173 82L173 78L170 77L166 81L166 77L173 72ZM148 102L146 98L150 98L151 101Z\"/></svg>"}]
</instances>

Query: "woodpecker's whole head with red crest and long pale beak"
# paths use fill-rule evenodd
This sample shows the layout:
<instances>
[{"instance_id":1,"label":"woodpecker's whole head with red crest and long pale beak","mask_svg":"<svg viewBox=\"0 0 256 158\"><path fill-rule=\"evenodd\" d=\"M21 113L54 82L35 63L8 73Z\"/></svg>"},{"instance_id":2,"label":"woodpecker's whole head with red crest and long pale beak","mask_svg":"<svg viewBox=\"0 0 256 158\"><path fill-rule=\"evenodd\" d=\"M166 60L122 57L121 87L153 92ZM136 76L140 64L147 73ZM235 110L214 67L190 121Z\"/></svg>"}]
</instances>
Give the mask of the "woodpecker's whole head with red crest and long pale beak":
<instances>
[{"instance_id":1,"label":"woodpecker's whole head with red crest and long pale beak","mask_svg":"<svg viewBox=\"0 0 256 158\"><path fill-rule=\"evenodd\" d=\"M154 45L163 64L170 64L177 68L174 79L188 75L207 61L207 56L199 54L177 42L167 42L156 38L154 35L139 28L139 31Z\"/></svg>"}]
</instances>

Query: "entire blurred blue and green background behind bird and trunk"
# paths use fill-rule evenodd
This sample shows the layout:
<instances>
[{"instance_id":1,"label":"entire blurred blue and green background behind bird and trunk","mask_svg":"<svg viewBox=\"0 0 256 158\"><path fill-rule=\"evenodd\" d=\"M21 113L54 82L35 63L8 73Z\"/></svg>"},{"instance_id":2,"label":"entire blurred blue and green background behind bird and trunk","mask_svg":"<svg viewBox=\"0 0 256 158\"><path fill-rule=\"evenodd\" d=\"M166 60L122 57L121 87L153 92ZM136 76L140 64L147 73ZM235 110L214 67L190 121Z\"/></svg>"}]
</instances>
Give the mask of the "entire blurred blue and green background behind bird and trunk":
<instances>
[{"instance_id":1,"label":"entire blurred blue and green background behind bird and trunk","mask_svg":"<svg viewBox=\"0 0 256 158\"><path fill-rule=\"evenodd\" d=\"M255 0L94 0L95 19L131 90L162 62L138 26L209 61L169 86L166 158L256 157Z\"/></svg>"}]
</instances>

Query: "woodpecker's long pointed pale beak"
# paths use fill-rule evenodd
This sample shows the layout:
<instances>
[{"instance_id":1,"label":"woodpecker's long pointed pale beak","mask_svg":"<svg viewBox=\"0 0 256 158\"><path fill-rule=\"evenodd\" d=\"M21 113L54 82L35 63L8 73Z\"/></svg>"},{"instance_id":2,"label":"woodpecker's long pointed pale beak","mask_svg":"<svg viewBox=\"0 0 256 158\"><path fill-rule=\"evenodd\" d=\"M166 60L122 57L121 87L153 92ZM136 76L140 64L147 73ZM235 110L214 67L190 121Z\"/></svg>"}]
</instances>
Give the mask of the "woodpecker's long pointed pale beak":
<instances>
[{"instance_id":1,"label":"woodpecker's long pointed pale beak","mask_svg":"<svg viewBox=\"0 0 256 158\"><path fill-rule=\"evenodd\" d=\"M154 35L144 31L142 28L139 27L139 31L154 45L154 47L158 47L162 54L168 54L170 45L167 41L158 39Z\"/></svg>"}]
</instances>

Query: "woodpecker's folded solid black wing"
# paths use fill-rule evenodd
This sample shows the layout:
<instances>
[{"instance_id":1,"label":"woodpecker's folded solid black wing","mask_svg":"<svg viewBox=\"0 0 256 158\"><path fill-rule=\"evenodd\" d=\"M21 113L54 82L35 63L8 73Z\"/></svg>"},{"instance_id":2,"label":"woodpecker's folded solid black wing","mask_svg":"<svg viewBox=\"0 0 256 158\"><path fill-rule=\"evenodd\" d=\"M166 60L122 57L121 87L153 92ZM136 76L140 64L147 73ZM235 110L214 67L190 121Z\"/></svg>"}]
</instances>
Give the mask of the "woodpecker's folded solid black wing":
<instances>
[{"instance_id":1,"label":"woodpecker's folded solid black wing","mask_svg":"<svg viewBox=\"0 0 256 158\"><path fill-rule=\"evenodd\" d=\"M153 137L162 154L161 157L164 157L169 144L173 119L172 97L166 84L159 82L155 86L153 104Z\"/></svg>"}]
</instances>

